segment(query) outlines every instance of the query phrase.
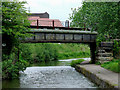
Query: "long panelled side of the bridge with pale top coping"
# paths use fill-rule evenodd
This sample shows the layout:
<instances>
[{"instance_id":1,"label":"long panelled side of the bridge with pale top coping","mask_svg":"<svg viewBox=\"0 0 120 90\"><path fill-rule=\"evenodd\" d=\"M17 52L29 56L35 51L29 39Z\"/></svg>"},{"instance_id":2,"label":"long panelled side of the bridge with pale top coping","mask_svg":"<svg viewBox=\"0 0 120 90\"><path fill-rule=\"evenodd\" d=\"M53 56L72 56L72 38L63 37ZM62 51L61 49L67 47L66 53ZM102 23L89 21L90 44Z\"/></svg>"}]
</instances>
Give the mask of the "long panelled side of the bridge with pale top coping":
<instances>
[{"instance_id":1,"label":"long panelled side of the bridge with pale top coping","mask_svg":"<svg viewBox=\"0 0 120 90\"><path fill-rule=\"evenodd\" d=\"M52 30L52 29L34 29L28 32L33 34L32 37L26 38L21 42L24 43L91 43L96 42L97 32L78 31L78 30Z\"/></svg>"}]
</instances>

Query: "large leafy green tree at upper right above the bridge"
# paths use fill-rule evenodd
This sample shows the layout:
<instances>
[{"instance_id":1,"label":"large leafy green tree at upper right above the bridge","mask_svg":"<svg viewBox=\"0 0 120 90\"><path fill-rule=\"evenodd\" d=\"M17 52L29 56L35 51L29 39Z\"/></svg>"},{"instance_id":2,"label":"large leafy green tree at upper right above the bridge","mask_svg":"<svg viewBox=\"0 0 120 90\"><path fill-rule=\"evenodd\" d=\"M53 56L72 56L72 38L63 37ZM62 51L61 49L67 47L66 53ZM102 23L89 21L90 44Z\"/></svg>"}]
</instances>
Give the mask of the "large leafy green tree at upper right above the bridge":
<instances>
[{"instance_id":1,"label":"large leafy green tree at upper right above the bridge","mask_svg":"<svg viewBox=\"0 0 120 90\"><path fill-rule=\"evenodd\" d=\"M102 41L106 40L104 36L120 38L119 10L117 2L83 2L82 7L73 10L71 26L83 27L85 23L92 30L97 28Z\"/></svg>"}]
</instances>

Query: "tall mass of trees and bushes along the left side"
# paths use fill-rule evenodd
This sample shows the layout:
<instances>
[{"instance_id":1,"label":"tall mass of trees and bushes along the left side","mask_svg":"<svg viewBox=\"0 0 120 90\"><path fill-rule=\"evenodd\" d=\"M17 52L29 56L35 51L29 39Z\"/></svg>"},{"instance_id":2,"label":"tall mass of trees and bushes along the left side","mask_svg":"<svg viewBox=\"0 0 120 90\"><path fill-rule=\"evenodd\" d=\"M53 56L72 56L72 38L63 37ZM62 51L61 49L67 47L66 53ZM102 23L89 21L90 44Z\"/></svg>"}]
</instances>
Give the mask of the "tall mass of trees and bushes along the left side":
<instances>
[{"instance_id":1,"label":"tall mass of trees and bushes along the left side","mask_svg":"<svg viewBox=\"0 0 120 90\"><path fill-rule=\"evenodd\" d=\"M2 2L2 77L12 79L19 76L28 63L18 55L19 38L29 36L30 23L24 7L26 2Z\"/></svg>"}]
</instances>

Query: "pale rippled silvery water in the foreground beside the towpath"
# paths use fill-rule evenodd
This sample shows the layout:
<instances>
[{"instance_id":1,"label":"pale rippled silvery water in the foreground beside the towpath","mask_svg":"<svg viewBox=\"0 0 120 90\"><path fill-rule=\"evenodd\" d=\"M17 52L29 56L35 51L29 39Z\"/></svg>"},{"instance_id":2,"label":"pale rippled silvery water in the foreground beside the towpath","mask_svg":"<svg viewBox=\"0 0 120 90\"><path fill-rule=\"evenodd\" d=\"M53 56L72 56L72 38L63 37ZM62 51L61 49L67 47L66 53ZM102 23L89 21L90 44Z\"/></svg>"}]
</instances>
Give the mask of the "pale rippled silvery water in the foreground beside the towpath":
<instances>
[{"instance_id":1,"label":"pale rippled silvery water in the foreground beside the towpath","mask_svg":"<svg viewBox=\"0 0 120 90\"><path fill-rule=\"evenodd\" d=\"M28 67L20 76L21 88L96 88L70 66Z\"/></svg>"}]
</instances>

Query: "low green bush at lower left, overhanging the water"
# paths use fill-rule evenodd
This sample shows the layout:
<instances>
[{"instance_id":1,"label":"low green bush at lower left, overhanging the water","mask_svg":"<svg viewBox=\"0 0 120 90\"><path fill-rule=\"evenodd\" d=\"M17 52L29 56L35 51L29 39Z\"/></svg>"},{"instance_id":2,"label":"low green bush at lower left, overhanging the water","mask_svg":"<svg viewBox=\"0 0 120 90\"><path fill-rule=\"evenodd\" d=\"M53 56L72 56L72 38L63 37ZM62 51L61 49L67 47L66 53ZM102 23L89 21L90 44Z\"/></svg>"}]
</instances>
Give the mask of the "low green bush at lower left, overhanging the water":
<instances>
[{"instance_id":1,"label":"low green bush at lower left, overhanging the water","mask_svg":"<svg viewBox=\"0 0 120 90\"><path fill-rule=\"evenodd\" d=\"M2 78L13 79L19 76L19 71L24 71L29 64L25 60L14 62L13 60L6 60L2 62Z\"/></svg>"}]
</instances>

